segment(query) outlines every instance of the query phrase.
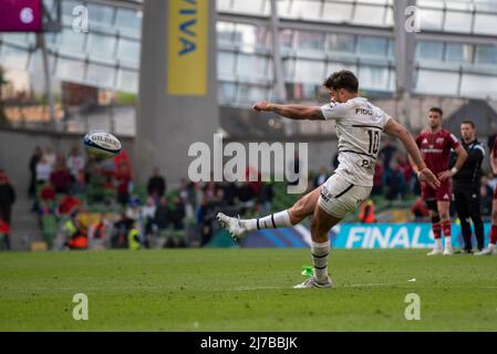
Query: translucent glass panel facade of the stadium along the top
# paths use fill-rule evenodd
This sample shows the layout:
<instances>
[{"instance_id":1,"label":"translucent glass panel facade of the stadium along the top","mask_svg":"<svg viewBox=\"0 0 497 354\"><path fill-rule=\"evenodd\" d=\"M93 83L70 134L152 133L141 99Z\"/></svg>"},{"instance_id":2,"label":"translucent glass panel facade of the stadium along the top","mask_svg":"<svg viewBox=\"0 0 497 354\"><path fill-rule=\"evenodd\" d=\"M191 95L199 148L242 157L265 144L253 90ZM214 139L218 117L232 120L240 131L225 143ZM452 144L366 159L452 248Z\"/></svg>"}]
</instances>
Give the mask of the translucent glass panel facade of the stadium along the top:
<instances>
[{"instance_id":1,"label":"translucent glass panel facade of the stadium along the top","mask_svg":"<svg viewBox=\"0 0 497 354\"><path fill-rule=\"evenodd\" d=\"M411 76L412 96L494 104L497 0L412 2L418 8L421 32L414 61L404 63L396 54L404 23L394 25L393 0L278 0L277 17L270 0L217 0L219 104L315 102L322 100L322 80L341 69L359 75L369 97L395 97L404 80L397 77L400 66ZM44 3L54 14L54 1ZM90 15L84 34L73 30L73 9L80 4ZM137 93L141 8L141 1L62 1L63 29L46 34L54 81ZM278 45L272 33L278 33ZM0 35L0 65L29 72L29 85L42 90L42 56L35 49L34 34Z\"/></svg>"}]
</instances>

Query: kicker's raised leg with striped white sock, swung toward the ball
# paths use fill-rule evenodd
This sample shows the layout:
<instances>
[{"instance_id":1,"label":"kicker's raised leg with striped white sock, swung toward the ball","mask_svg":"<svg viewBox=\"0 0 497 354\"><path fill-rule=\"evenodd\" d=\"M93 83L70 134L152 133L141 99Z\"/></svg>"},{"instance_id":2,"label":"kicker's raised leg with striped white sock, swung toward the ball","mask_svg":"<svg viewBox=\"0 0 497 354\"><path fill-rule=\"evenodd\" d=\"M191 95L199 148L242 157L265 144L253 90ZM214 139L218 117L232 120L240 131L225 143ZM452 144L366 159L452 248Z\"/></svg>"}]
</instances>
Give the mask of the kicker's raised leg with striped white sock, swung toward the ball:
<instances>
[{"instance_id":1,"label":"kicker's raised leg with striped white sock, swung toward the ball","mask_svg":"<svg viewBox=\"0 0 497 354\"><path fill-rule=\"evenodd\" d=\"M301 222L314 212L318 205L320 187L307 194L289 209L257 219L231 218L222 212L216 216L220 226L227 229L235 240L241 239L246 232L262 229L287 228Z\"/></svg>"}]
</instances>

